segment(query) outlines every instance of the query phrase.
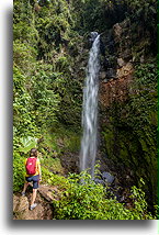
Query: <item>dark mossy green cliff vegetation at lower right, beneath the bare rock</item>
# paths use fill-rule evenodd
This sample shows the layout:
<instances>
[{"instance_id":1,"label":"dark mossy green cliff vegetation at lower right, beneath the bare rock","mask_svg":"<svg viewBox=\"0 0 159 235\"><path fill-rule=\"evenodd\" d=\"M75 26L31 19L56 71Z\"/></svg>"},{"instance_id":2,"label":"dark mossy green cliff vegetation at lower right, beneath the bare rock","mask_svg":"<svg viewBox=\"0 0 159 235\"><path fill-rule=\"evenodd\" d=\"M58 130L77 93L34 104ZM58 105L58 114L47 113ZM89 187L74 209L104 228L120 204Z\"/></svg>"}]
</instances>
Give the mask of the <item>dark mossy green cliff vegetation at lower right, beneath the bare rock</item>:
<instances>
[{"instance_id":1,"label":"dark mossy green cliff vegetation at lower right, beneath the bare rock","mask_svg":"<svg viewBox=\"0 0 159 235\"><path fill-rule=\"evenodd\" d=\"M128 100L114 102L106 111L110 122L102 126L102 134L116 168L124 170L122 161L135 172L136 183L138 177L144 178L152 203L157 201L157 65L154 60L137 65L134 77Z\"/></svg>"}]
</instances>

